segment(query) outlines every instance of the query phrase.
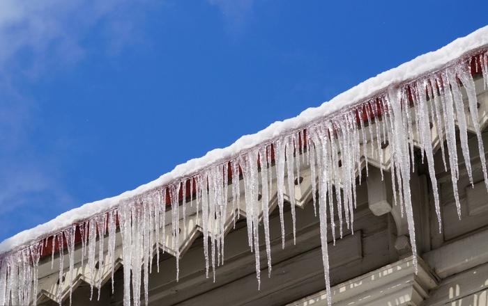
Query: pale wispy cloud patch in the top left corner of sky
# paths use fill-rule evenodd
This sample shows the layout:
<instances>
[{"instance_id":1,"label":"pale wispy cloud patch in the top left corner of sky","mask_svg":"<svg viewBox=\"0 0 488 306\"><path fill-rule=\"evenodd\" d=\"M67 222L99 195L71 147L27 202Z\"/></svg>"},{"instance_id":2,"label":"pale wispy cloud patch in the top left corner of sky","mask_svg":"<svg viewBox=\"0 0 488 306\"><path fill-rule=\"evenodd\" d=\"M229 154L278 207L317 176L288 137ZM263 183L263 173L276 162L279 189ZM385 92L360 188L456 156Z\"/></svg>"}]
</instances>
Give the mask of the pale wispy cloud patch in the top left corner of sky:
<instances>
[{"instance_id":1,"label":"pale wispy cloud patch in the top left corner of sky","mask_svg":"<svg viewBox=\"0 0 488 306\"><path fill-rule=\"evenodd\" d=\"M149 6L124 0L0 1L0 70L13 66L36 75L52 65L78 63L90 51L84 45L89 35L105 43L104 51L118 51L140 39L136 24Z\"/></svg>"}]
</instances>

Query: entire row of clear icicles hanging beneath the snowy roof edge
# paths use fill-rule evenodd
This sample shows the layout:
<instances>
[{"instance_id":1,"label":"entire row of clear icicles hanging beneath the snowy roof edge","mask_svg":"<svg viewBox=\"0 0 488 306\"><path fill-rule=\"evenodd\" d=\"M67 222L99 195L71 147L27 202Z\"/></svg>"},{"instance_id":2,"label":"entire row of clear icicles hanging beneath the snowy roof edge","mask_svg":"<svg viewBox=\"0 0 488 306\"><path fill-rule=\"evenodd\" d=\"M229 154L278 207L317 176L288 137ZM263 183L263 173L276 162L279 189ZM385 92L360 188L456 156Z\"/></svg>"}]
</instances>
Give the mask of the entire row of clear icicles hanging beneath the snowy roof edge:
<instances>
[{"instance_id":1,"label":"entire row of clear icicles hanging beneath the snowy roof edge","mask_svg":"<svg viewBox=\"0 0 488 306\"><path fill-rule=\"evenodd\" d=\"M471 65L471 61L476 61ZM475 67L476 71L471 71ZM270 195L277 193L277 204L280 211L282 246L284 247L283 206L284 191L287 189L291 204L293 221L293 242L296 238L296 218L293 184L295 178L300 177L300 163L310 167L312 181L312 198L314 208L318 204L321 232L321 248L328 305L331 305L329 261L328 261L328 229L335 241L336 225L338 222L339 236L342 237L343 223L353 231L353 209L356 207L356 182L360 184L361 163L365 161L366 174L367 156L365 152L368 143L374 148L374 154L383 161L381 145L391 146L390 176L394 189L394 202L406 214L409 225L411 248L414 255L416 270L415 227L411 204L411 190L409 186L410 173L413 171L413 140L410 135L416 134L422 161L427 160L429 177L432 182L434 205L441 229L439 209L439 194L437 191L436 175L434 171L434 152L432 150L432 127L435 127L440 143L446 142L446 148L441 146L445 170L449 170L452 177L453 191L457 213L460 218L460 203L457 194L457 180L459 179L457 138L455 124L459 128L459 143L462 158L466 165L468 177L473 184L471 162L468 150L468 134L466 111L463 104L461 86L466 90L468 98L468 113L478 138L478 150L485 184L488 188L485 150L483 148L480 125L478 121L478 102L472 73L482 72L483 83L488 86L488 52L460 61L456 65L429 74L421 79L406 83L400 88L391 87L387 92L369 101L335 115L321 122L314 122L301 131L288 136L282 136L272 143L256 147L229 162L213 166L199 173L191 179L175 182L158 190L141 195L136 200L124 202L118 208L86 220L79 225L73 225L54 236L23 250L3 255L0 259L0 305L36 305L38 297L38 263L44 254L47 243L52 243L52 262L54 250L59 249L59 282L69 282L69 297L73 291L73 267L75 252L75 234L81 236L82 264L94 275L96 264L102 266L104 259L104 237L108 235L108 261L112 264L112 292L114 290L114 250L116 245L116 229L119 227L122 237L123 257L123 292L124 305L140 305L141 286L144 285L144 299L148 302L148 274L152 271L152 258L156 253L158 263L160 248L153 248L159 243L162 250L176 250L176 258L180 257L178 242L179 223L183 219L186 226L185 205L195 203L197 214L201 214L201 232L204 234L204 255L206 276L211 270L215 280L215 266L224 262L224 234L226 227L227 209L232 210L234 223L238 216L239 207L245 205L248 243L256 257L256 273L258 287L260 284L260 252L259 252L259 218L262 213L264 225L264 244L268 260L268 275L271 273L270 233L268 224L268 203ZM407 109L411 111L406 111ZM455 120L457 122L455 122ZM431 126L431 122L433 123ZM305 132L306 131L306 132ZM445 154L444 151L447 151ZM341 154L347 152L347 154ZM445 156L448 160L446 161ZM273 166L275 168L276 184L272 184ZM285 175L286 172L286 175ZM240 175L243 177L245 203L240 203L241 191ZM383 170L381 170L383 177ZM385 174L386 175L386 174ZM286 178L286 182L285 182ZM277 190L273 191L273 186ZM339 187L342 192L335 192ZM339 189L338 188L338 189ZM230 195L228 193L231 193ZM188 197L187 197L188 195ZM228 198L231 200L228 201ZM188 203L187 203L188 201ZM161 237L165 236L166 204L171 204L171 245L164 245ZM317 204L316 204L317 203ZM182 208L182 216L178 207ZM337 217L335 217L337 216ZM197 217L198 218L198 217ZM336 220L337 218L337 220ZM329 223L328 223L329 222ZM186 229L185 229L186 232ZM161 235L162 234L162 235ZM96 244L98 241L98 261L96 261ZM210 242L210 244L209 244ZM68 249L69 268L63 271L63 248ZM84 258L86 257L86 259ZM178 260L177 260L178 262ZM53 267L52 267L53 268ZM176 279L179 269L177 264ZM144 272L142 272L144 271ZM100 273L101 274L101 273ZM144 280L142 277L144 276ZM131 278L132 277L132 278ZM100 287L102 279L91 282ZM61 304L63 286L59 285L57 297ZM132 294L130 284L132 284Z\"/></svg>"}]
</instances>

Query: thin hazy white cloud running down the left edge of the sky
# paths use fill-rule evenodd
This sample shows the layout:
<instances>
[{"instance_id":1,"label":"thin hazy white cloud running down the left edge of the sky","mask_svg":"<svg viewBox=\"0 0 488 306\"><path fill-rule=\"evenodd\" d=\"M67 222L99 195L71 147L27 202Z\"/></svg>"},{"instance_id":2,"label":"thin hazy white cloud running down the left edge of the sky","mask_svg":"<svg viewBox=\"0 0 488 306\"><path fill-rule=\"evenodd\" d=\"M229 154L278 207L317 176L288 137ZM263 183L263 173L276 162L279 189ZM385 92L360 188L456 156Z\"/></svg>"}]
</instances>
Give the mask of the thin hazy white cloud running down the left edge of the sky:
<instances>
[{"instance_id":1,"label":"thin hazy white cloud running down the left edge of the sky","mask_svg":"<svg viewBox=\"0 0 488 306\"><path fill-rule=\"evenodd\" d=\"M110 58L139 43L144 35L138 26L151 6L125 0L0 1L0 240L19 226L10 216L36 225L74 201L58 162L63 152L38 154L31 143L42 106L20 85L69 70L93 53Z\"/></svg>"}]
</instances>

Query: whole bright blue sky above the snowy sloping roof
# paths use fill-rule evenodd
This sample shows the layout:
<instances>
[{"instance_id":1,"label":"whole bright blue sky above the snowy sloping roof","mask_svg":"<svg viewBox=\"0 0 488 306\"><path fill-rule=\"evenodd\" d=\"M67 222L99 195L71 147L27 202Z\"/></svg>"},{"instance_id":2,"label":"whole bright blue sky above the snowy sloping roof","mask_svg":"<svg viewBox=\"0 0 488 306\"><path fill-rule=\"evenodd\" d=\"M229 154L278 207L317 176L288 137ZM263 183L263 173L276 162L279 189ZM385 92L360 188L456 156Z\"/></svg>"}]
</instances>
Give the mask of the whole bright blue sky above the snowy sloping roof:
<instances>
[{"instance_id":1,"label":"whole bright blue sky above the snowy sloping roof","mask_svg":"<svg viewBox=\"0 0 488 306\"><path fill-rule=\"evenodd\" d=\"M488 1L0 3L0 240L318 106Z\"/></svg>"}]
</instances>

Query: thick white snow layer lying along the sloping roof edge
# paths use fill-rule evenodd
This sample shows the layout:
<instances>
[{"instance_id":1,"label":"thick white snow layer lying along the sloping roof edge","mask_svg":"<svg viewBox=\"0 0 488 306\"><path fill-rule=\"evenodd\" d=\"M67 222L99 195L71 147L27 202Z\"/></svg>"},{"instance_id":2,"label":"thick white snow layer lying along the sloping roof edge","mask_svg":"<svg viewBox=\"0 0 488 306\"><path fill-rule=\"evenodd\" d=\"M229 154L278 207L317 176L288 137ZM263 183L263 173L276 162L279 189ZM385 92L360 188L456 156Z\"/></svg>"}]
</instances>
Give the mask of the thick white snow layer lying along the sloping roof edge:
<instances>
[{"instance_id":1,"label":"thick white snow layer lying along the sloping roof edge","mask_svg":"<svg viewBox=\"0 0 488 306\"><path fill-rule=\"evenodd\" d=\"M295 118L274 122L256 134L242 136L235 143L229 145L229 147L212 150L205 154L205 156L198 159L191 159L186 163L178 165L171 172L167 172L158 177L158 179L139 186L132 191L125 191L112 198L83 204L81 207L67 211L47 223L20 232L0 243L0 255L13 250L19 250L46 236L60 232L74 223L79 223L82 220L114 209L130 201L132 198L154 190L155 188L167 186L180 179L192 177L210 166L229 161L253 147L270 143L279 136L291 134L298 129L304 129L317 120L331 117L336 113L340 113L345 108L355 106L365 99L385 91L389 86L406 83L422 75L439 70L442 67L450 65L453 61L457 61L459 57L468 56L487 45L488 26L485 26L464 38L454 40L449 45L437 51L423 54L414 58L412 61L378 74L376 77L367 79L358 86L342 92L330 101L323 102L321 106L307 108Z\"/></svg>"}]
</instances>

